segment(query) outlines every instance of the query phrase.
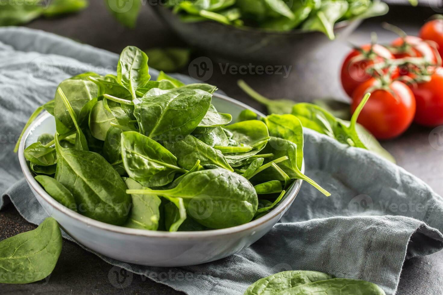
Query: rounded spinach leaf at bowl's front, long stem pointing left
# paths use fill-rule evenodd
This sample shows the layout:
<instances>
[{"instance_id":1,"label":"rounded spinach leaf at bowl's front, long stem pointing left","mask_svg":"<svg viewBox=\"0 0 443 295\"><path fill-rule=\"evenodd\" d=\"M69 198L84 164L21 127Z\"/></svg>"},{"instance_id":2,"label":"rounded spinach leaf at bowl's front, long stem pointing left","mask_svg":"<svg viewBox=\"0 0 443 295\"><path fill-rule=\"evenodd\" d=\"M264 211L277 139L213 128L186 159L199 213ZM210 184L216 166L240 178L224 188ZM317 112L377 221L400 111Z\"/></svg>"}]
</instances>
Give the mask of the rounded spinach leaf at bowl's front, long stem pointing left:
<instances>
[{"instance_id":1,"label":"rounded spinach leaf at bowl's front, long stem pointing left","mask_svg":"<svg viewBox=\"0 0 443 295\"><path fill-rule=\"evenodd\" d=\"M258 199L245 177L226 169L209 169L185 175L175 188L128 190L130 194L183 198L187 212L203 226L220 229L252 220ZM239 210L224 210L237 207Z\"/></svg>"}]
</instances>

